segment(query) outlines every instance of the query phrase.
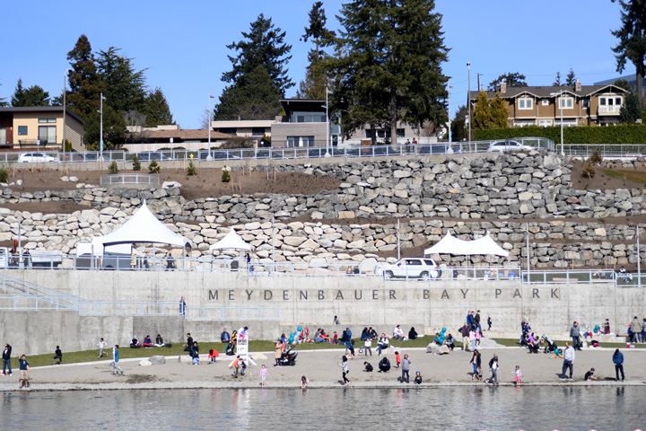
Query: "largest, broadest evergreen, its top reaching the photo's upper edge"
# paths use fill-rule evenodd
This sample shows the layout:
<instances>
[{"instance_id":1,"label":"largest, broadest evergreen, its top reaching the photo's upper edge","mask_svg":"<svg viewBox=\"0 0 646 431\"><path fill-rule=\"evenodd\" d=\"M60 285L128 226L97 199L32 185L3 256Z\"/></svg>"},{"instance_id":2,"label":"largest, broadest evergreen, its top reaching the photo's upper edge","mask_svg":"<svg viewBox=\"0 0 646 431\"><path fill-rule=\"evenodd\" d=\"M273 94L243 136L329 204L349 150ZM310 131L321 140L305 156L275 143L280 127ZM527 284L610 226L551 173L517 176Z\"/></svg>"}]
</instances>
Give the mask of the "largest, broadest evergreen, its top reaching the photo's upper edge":
<instances>
[{"instance_id":1,"label":"largest, broadest evergreen, its top reaching the photo's upper edge","mask_svg":"<svg viewBox=\"0 0 646 431\"><path fill-rule=\"evenodd\" d=\"M433 0L354 0L338 17L336 57L327 61L335 75L336 110L345 134L368 124L388 125L393 142L397 121L416 128L446 122L447 61L441 14Z\"/></svg>"}]
</instances>

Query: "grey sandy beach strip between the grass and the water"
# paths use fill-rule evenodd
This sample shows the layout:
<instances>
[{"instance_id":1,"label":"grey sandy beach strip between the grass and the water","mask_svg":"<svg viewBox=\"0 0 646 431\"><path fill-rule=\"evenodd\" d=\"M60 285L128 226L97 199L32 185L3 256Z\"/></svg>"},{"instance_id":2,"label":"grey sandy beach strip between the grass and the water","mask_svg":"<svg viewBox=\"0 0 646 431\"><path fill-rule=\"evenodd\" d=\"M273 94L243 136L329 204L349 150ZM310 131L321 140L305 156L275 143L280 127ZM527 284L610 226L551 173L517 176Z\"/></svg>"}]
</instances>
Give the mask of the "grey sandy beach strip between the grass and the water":
<instances>
[{"instance_id":1,"label":"grey sandy beach strip between the grass and the water","mask_svg":"<svg viewBox=\"0 0 646 431\"><path fill-rule=\"evenodd\" d=\"M298 347L296 347L298 348ZM406 353L411 359L411 383L399 383L397 378L401 371L391 368L388 373L377 373L376 349L372 356L357 356L350 361L351 384L347 388L401 388L416 386L413 381L415 371L423 375L423 388L451 386L485 385L471 380L473 372L470 352L456 350L448 355L433 356L425 348L397 348L400 354ZM644 385L643 359L646 350L621 349L624 353L625 382L615 382L615 366L612 363L613 348L587 348L576 352L574 361L574 379L559 380L563 359L550 358L551 355L539 353L530 355L521 347L483 347L483 372L489 375L488 362L494 355L499 356L501 369L498 373L500 386L515 386L515 365L519 365L523 374L522 384L528 386L549 385ZM389 349L388 357L395 365L395 351ZM339 350L304 350L294 366L275 368L274 352L254 352L251 356L266 356L257 359L258 366L249 366L244 377L235 379L228 366L232 356L221 356L216 364L201 365L179 363L178 356L166 356L166 364L140 366L141 359L124 359L119 362L125 375L111 374L111 360L71 365L48 365L31 369L31 387L28 391L115 391L115 390L151 390L151 389L253 389L260 388L260 365L268 368L267 389L299 388L301 375L310 380L309 388L341 387L341 360ZM374 366L375 372L363 372L363 362ZM591 367L596 369L597 381L584 382L583 374ZM18 390L19 372L0 377L0 391Z\"/></svg>"}]
</instances>

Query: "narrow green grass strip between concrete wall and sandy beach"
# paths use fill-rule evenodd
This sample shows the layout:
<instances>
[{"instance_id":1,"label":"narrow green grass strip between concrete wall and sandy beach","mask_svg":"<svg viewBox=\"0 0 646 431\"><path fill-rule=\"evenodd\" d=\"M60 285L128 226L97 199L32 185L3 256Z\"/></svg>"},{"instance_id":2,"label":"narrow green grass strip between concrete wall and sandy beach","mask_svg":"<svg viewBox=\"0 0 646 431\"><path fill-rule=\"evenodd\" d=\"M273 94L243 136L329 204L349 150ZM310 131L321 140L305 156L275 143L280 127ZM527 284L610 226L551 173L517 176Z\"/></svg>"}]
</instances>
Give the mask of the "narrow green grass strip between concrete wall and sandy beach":
<instances>
[{"instance_id":1,"label":"narrow green grass strip between concrete wall and sandy beach","mask_svg":"<svg viewBox=\"0 0 646 431\"><path fill-rule=\"evenodd\" d=\"M392 347L426 347L432 341L433 337L424 336L418 339L410 341L397 341L394 339L390 340L389 351L394 353ZM361 340L355 339L355 350L363 346ZM224 347L223 343L214 343L214 342L198 342L200 347L201 354L207 354L208 351L213 348L220 352L221 357L224 356ZM460 343L456 342L456 346L461 346ZM273 352L275 343L273 341L265 340L256 340L249 342L249 351L251 352ZM345 352L345 347L329 343L318 343L318 344L300 344L295 347L296 350L320 350L325 348L336 348L339 350L339 353ZM372 350L377 352L377 343L372 343ZM112 360L112 347L105 349L104 351L108 352L108 356L103 356L102 359L99 359L99 348L94 348L92 350L82 350L79 352L63 352L63 363L64 364L75 364L80 362L111 362ZM16 356L18 351L14 348L12 352L12 367L16 370L18 369L18 357ZM155 355L162 356L178 356L178 355L188 355L184 352L184 347L181 344L173 344L172 347L153 347L153 348L130 348L128 346L119 347L119 358L127 359L130 357L150 357ZM52 358L54 357L54 352L47 355L33 355L27 356L27 361L30 363L30 366L43 366L51 365ZM273 356L270 357L273 360Z\"/></svg>"}]
</instances>

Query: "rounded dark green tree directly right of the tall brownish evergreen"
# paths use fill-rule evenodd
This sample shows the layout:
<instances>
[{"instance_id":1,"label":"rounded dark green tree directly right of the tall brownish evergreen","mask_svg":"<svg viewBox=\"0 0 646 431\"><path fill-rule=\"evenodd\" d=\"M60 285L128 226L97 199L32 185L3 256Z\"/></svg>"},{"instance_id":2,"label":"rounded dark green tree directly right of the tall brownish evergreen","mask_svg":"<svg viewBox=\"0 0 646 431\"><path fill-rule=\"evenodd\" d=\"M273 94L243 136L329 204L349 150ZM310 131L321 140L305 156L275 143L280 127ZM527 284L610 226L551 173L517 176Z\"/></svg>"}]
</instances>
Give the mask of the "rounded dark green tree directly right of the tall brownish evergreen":
<instances>
[{"instance_id":1,"label":"rounded dark green tree directly right of the tall brownish evergreen","mask_svg":"<svg viewBox=\"0 0 646 431\"><path fill-rule=\"evenodd\" d=\"M120 48L100 50L96 59L97 73L106 91L105 103L113 110L127 112L144 110L146 85L144 70L136 71L133 59L118 55Z\"/></svg>"}]
</instances>

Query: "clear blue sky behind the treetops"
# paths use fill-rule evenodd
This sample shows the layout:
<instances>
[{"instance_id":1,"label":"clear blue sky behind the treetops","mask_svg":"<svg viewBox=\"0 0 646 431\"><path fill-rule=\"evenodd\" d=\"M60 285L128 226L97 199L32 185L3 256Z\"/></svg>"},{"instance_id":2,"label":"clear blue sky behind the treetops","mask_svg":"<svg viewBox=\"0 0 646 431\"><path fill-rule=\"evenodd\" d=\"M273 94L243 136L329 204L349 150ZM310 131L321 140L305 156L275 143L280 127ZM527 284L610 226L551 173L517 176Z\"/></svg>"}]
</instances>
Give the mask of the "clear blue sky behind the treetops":
<instances>
[{"instance_id":1,"label":"clear blue sky behind the treetops","mask_svg":"<svg viewBox=\"0 0 646 431\"><path fill-rule=\"evenodd\" d=\"M345 0L324 2L328 25ZM191 0L184 2L8 1L3 4L3 54L0 97L13 94L18 78L25 86L38 84L50 95L63 89L66 54L81 34L92 50L122 48L147 68L147 84L161 87L174 119L182 128L199 128L208 107L208 93L217 98L220 80L231 70L225 45L241 39L259 13L271 17L292 45L289 75L298 83L305 74L311 45L299 39L307 25L313 0ZM619 5L610 0L437 0L443 15L451 76L451 110L467 97L467 61L471 88L476 74L488 84L506 72L527 75L530 85L549 85L557 71L562 77L572 66L583 84L613 78ZM628 65L625 75L634 73ZM296 87L287 93L295 96ZM217 101L217 99L214 99Z\"/></svg>"}]
</instances>

